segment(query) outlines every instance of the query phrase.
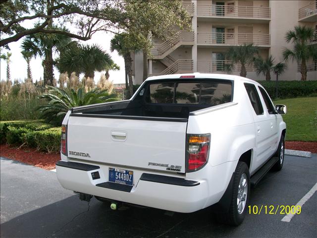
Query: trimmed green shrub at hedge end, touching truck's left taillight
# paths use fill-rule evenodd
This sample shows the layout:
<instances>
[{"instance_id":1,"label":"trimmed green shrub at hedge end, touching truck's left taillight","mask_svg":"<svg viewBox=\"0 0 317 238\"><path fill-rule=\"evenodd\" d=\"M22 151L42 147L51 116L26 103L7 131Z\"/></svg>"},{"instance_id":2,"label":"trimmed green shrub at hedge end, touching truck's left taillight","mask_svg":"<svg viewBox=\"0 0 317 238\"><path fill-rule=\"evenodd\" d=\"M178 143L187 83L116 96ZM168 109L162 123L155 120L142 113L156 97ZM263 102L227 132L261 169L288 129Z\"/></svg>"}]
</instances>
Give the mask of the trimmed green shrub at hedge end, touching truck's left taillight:
<instances>
[{"instance_id":1,"label":"trimmed green shrub at hedge end, touching truck's left taillight","mask_svg":"<svg viewBox=\"0 0 317 238\"><path fill-rule=\"evenodd\" d=\"M60 151L61 127L53 127L34 132L34 140L38 150L51 152Z\"/></svg>"}]
</instances>

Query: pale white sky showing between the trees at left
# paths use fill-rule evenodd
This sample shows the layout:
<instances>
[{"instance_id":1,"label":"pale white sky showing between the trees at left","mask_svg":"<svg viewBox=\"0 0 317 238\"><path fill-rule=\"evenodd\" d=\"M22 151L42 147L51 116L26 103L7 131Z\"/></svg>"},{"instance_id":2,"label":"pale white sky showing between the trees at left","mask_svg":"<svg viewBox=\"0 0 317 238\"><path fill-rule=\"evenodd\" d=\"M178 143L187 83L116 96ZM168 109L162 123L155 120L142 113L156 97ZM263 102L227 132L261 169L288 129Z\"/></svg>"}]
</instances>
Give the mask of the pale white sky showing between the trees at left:
<instances>
[{"instance_id":1,"label":"pale white sky showing between the trees at left","mask_svg":"<svg viewBox=\"0 0 317 238\"><path fill-rule=\"evenodd\" d=\"M110 52L110 40L113 37L113 33L106 33L106 32L97 32L92 36L91 40L88 41L80 41L81 44L98 44L100 45L103 50L105 50L110 56L111 59L120 66L119 71L110 71L109 80L113 81L113 83L124 83L125 82L125 75L124 75L124 60L122 57L118 56L116 52ZM11 63L10 63L10 72L11 72L11 80L14 79L21 79L22 81L26 77L27 73L27 64L26 61L23 59L21 54L21 42L23 38L21 38L17 42L9 43L10 52L12 53L11 56ZM3 51L4 52L4 51ZM32 59L30 62L33 81L40 80L40 77L43 79L43 67L42 67L42 59L36 58ZM95 72L95 83L98 82L100 75L105 72ZM59 72L56 68L54 68L54 77L58 80ZM6 62L4 60L0 61L0 79L6 80Z\"/></svg>"}]
</instances>

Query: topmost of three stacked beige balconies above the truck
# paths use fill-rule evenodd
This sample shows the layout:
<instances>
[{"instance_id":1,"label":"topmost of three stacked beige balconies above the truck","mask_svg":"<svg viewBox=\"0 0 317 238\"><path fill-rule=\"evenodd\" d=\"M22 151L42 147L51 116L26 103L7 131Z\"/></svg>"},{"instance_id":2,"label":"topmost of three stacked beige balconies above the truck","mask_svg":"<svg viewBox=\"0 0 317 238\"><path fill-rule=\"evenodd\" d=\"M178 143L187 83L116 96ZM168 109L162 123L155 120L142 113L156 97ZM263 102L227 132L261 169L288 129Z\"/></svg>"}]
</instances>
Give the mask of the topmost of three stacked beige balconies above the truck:
<instances>
[{"instance_id":1,"label":"topmost of three stacked beige balconies above the truck","mask_svg":"<svg viewBox=\"0 0 317 238\"><path fill-rule=\"evenodd\" d=\"M224 21L225 19L254 19L258 22L267 22L271 17L270 7L263 6L229 6L197 4L198 17L212 17ZM255 21L257 22L257 21Z\"/></svg>"}]
</instances>

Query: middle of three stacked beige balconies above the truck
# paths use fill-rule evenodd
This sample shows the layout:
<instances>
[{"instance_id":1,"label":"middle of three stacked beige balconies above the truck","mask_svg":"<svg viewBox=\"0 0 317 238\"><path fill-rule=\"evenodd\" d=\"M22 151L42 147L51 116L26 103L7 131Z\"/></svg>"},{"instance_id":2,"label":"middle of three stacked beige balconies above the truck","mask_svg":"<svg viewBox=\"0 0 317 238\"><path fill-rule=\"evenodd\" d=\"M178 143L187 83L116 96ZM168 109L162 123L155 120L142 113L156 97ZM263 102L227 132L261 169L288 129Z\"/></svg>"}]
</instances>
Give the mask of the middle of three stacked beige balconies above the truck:
<instances>
[{"instance_id":1,"label":"middle of three stacked beige balconies above the truck","mask_svg":"<svg viewBox=\"0 0 317 238\"><path fill-rule=\"evenodd\" d=\"M249 33L216 33L198 32L197 44L205 46L232 46L241 44L254 44L259 47L270 46L269 34Z\"/></svg>"}]
</instances>

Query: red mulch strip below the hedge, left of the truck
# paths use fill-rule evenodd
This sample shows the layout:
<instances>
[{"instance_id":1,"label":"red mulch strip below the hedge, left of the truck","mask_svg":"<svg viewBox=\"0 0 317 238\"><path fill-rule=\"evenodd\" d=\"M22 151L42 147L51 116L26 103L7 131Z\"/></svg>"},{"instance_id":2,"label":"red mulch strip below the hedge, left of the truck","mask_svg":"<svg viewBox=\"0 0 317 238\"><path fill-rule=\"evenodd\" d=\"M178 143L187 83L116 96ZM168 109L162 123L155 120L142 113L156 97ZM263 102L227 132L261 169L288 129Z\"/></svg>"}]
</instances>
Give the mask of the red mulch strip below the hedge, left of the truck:
<instances>
[{"instance_id":1,"label":"red mulch strip below the hedge, left of the truck","mask_svg":"<svg viewBox=\"0 0 317 238\"><path fill-rule=\"evenodd\" d=\"M46 170L55 169L55 164L60 160L60 154L47 154L37 151L34 148L10 147L0 145L0 155L12 160L17 160L25 164L34 165Z\"/></svg>"}]
</instances>

